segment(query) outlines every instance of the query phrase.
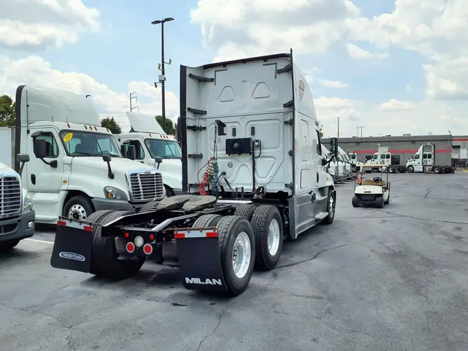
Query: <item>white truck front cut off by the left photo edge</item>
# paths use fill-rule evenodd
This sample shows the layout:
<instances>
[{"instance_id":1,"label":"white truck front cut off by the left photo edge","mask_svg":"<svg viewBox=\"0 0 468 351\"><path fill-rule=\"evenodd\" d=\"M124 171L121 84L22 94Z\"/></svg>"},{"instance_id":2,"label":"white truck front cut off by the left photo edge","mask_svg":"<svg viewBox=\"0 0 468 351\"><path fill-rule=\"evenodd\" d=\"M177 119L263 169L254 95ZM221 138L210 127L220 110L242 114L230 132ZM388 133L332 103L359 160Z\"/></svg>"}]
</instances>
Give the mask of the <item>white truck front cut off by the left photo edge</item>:
<instances>
[{"instance_id":1,"label":"white truck front cut off by the left photo edge","mask_svg":"<svg viewBox=\"0 0 468 351\"><path fill-rule=\"evenodd\" d=\"M8 142L8 139L0 139L0 147L8 150ZM18 173L6 166L11 164L10 157L0 155L0 252L5 252L17 246L20 240L34 235L35 211L31 195L21 186L21 172L29 156L17 155L17 162L21 163Z\"/></svg>"}]
</instances>

